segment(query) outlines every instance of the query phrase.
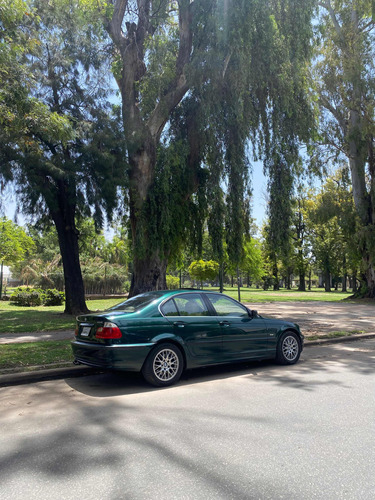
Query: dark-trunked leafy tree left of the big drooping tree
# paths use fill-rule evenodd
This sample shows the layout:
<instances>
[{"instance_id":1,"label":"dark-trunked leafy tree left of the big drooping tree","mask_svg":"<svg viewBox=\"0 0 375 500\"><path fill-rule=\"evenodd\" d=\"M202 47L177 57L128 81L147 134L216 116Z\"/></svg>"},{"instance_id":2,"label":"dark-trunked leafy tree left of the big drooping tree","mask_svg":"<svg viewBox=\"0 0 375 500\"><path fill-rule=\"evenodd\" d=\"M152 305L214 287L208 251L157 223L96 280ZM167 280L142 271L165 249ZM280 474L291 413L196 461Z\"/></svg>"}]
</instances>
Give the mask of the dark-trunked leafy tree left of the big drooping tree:
<instances>
[{"instance_id":1,"label":"dark-trunked leafy tree left of the big drooping tree","mask_svg":"<svg viewBox=\"0 0 375 500\"><path fill-rule=\"evenodd\" d=\"M92 2L35 0L38 44L29 58L36 83L29 102L37 120L8 144L3 170L17 185L23 211L52 220L65 280L65 312L87 311L79 261L77 218L97 226L110 216L125 170L118 116L107 104L108 67L101 23ZM121 174L122 175L122 174Z\"/></svg>"}]
</instances>

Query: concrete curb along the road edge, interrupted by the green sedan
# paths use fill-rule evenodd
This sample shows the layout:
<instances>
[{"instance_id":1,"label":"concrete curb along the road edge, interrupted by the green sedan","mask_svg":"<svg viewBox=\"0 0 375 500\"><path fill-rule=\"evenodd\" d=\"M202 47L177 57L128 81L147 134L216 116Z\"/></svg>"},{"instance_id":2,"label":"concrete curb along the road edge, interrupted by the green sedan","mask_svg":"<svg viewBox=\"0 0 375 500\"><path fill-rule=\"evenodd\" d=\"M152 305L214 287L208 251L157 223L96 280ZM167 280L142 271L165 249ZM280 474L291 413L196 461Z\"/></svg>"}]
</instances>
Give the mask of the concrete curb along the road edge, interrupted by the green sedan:
<instances>
[{"instance_id":1,"label":"concrete curb along the road edge, interrupted by the green sedan","mask_svg":"<svg viewBox=\"0 0 375 500\"><path fill-rule=\"evenodd\" d=\"M351 335L350 337L336 337L332 339L305 340L305 348L314 346L323 346L328 344L339 344L345 342L355 342L357 340L375 338L375 333L363 333ZM101 373L103 370L92 368L83 365L72 365L63 368L51 368L43 370L33 370L20 373L9 373L0 375L0 387L8 387L13 385L32 384L35 382L43 382L46 380L58 380L72 377L84 377Z\"/></svg>"}]
</instances>

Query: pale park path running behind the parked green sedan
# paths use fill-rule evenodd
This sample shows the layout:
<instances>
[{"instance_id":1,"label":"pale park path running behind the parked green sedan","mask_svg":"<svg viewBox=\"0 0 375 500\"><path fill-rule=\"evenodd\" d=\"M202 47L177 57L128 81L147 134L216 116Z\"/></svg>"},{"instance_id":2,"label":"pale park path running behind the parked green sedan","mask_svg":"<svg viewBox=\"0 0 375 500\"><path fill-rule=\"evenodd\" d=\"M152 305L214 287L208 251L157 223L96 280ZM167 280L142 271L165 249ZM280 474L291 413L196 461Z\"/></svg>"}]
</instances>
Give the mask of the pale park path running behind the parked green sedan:
<instances>
[{"instance_id":1,"label":"pale park path running behind the parked green sedan","mask_svg":"<svg viewBox=\"0 0 375 500\"><path fill-rule=\"evenodd\" d=\"M349 302L265 302L246 303L266 318L283 318L298 323L302 333L326 335L333 331L375 333L375 304ZM74 338L74 330L33 333L1 333L0 344L65 340Z\"/></svg>"}]
</instances>

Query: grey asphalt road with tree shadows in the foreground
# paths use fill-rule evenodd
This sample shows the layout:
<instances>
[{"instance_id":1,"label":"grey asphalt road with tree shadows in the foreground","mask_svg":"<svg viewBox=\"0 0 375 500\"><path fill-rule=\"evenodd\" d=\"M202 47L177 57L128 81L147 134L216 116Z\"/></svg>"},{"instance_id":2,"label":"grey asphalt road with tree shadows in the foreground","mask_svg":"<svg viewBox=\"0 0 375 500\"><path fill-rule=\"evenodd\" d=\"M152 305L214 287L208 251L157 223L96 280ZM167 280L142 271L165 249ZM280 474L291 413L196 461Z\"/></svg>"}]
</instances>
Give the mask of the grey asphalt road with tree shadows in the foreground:
<instances>
[{"instance_id":1,"label":"grey asphalt road with tree shadows in the foreground","mask_svg":"<svg viewBox=\"0 0 375 500\"><path fill-rule=\"evenodd\" d=\"M375 498L375 340L292 367L96 376L0 389L11 499Z\"/></svg>"}]
</instances>

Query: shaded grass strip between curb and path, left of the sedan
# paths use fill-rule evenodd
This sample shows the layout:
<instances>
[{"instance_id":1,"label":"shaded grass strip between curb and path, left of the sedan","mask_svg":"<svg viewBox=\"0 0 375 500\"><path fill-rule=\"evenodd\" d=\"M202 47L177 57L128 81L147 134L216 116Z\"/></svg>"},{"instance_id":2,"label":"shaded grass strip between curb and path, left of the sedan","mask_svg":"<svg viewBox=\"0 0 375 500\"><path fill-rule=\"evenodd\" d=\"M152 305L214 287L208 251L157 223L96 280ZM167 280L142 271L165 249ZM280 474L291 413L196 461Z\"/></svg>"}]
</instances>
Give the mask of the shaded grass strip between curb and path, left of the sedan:
<instances>
[{"instance_id":1,"label":"shaded grass strip between curb and path, left of the sedan","mask_svg":"<svg viewBox=\"0 0 375 500\"><path fill-rule=\"evenodd\" d=\"M0 373L27 371L33 366L48 368L53 365L57 368L72 363L73 359L70 340L3 344L0 347Z\"/></svg>"}]
</instances>

